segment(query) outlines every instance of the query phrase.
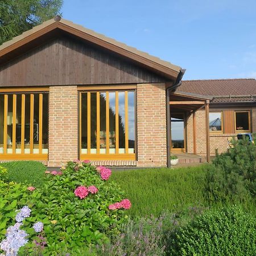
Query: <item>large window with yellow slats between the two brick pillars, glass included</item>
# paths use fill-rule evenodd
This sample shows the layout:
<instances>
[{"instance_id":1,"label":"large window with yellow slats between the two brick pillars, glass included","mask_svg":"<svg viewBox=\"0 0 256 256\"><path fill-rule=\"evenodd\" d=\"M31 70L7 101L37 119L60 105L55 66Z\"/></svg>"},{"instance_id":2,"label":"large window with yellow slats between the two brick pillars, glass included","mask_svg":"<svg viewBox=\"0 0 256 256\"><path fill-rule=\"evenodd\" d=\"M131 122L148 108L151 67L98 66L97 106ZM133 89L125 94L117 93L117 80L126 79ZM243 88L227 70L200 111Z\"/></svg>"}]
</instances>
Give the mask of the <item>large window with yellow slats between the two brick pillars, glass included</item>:
<instances>
[{"instance_id":1,"label":"large window with yellow slats between the two brick pillars, glass included","mask_svg":"<svg viewBox=\"0 0 256 256\"><path fill-rule=\"evenodd\" d=\"M135 91L80 93L80 158L135 160Z\"/></svg>"}]
</instances>

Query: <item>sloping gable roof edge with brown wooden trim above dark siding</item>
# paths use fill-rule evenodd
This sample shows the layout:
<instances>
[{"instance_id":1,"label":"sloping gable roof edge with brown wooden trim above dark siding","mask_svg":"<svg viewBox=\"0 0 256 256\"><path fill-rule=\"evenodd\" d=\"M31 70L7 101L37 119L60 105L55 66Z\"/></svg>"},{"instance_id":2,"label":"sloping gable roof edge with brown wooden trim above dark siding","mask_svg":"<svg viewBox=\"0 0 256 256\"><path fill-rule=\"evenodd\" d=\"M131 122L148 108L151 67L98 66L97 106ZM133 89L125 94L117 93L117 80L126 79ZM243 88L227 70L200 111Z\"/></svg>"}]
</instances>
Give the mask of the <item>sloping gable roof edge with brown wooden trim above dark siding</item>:
<instances>
[{"instance_id":1,"label":"sloping gable roof edge with brown wooden trim above dark siding","mask_svg":"<svg viewBox=\"0 0 256 256\"><path fill-rule=\"evenodd\" d=\"M158 57L149 55L146 52L139 51L136 48L127 46L126 44L117 42L116 40L108 38L102 34L98 34L93 30L89 30L88 28L74 24L69 20L62 19L60 16L56 16L54 19L47 20L39 26L24 32L22 35L16 36L10 41L3 43L2 46L0 46L0 64L9 60L10 57L14 57L19 48L22 48L26 46L26 44L39 39L41 36L50 34L52 31L62 31L76 36L77 38L85 40L86 42L90 42L105 48L108 51L126 57L127 59L130 59L142 67L159 73L160 75L171 80L176 80L177 75L179 75L181 70L180 67L174 64L161 60Z\"/></svg>"}]
</instances>

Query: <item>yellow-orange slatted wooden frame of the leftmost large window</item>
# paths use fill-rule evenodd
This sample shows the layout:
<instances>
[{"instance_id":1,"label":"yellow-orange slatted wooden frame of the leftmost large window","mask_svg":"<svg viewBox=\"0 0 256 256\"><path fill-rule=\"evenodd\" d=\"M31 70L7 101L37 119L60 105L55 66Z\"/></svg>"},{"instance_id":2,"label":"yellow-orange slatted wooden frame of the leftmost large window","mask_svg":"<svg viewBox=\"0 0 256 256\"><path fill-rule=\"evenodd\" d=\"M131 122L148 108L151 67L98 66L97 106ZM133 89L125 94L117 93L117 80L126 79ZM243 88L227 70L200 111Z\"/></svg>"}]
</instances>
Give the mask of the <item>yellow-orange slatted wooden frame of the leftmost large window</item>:
<instances>
[{"instance_id":1,"label":"yellow-orange slatted wooden frame of the leftmost large window","mask_svg":"<svg viewBox=\"0 0 256 256\"><path fill-rule=\"evenodd\" d=\"M43 131L43 94L49 92L48 87L38 87L38 88L1 88L0 95L4 97L4 123L3 123L3 154L0 154L0 160L48 160L48 152L42 152L42 131ZM39 94L39 153L34 153L34 95ZM16 152L16 110L18 106L16 105L17 95L21 95L21 141L20 141L20 154ZM7 113L8 113L8 100L9 96L13 97L13 131L11 134L12 139L12 152L7 152ZM49 95L47 95L49 97ZM30 153L25 154L25 142L24 142L24 129L25 129L25 114L26 114L26 100L30 98ZM49 104L49 102L48 102ZM48 106L46 108L47 112ZM49 129L48 129L49 133ZM48 134L49 137L49 134ZM32 151L32 153L31 153Z\"/></svg>"}]
</instances>

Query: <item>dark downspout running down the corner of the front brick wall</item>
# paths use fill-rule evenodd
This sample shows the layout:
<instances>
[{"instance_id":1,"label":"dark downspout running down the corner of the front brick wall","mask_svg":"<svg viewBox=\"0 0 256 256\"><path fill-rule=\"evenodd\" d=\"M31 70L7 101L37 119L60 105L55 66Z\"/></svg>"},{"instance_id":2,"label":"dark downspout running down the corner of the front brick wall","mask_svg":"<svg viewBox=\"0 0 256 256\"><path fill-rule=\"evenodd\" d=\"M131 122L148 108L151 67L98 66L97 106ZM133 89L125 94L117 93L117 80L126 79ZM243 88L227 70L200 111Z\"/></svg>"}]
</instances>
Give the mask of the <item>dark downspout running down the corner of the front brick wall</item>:
<instances>
[{"instance_id":1,"label":"dark downspout running down the corner of the front brick wall","mask_svg":"<svg viewBox=\"0 0 256 256\"><path fill-rule=\"evenodd\" d=\"M171 167L171 114L170 114L170 92L173 92L181 85L181 79L185 69L180 69L180 73L174 85L166 88L166 137L167 137L167 167Z\"/></svg>"}]
</instances>

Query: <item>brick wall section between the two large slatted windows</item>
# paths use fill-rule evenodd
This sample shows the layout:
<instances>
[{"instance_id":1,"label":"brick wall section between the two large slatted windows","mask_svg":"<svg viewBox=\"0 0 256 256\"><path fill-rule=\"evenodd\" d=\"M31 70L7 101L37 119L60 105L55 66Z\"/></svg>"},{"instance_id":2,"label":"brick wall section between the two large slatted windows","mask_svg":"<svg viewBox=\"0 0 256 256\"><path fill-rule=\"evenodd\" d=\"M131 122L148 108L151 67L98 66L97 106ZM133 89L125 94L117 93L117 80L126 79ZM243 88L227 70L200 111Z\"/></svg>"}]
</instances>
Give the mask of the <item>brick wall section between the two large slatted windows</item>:
<instances>
[{"instance_id":1,"label":"brick wall section between the two large slatted windows","mask_svg":"<svg viewBox=\"0 0 256 256\"><path fill-rule=\"evenodd\" d=\"M77 86L49 89L49 167L77 159Z\"/></svg>"}]
</instances>

